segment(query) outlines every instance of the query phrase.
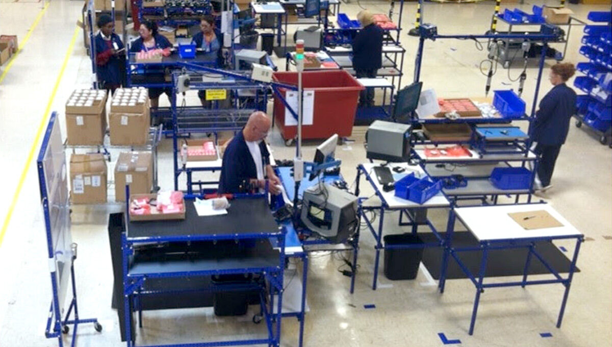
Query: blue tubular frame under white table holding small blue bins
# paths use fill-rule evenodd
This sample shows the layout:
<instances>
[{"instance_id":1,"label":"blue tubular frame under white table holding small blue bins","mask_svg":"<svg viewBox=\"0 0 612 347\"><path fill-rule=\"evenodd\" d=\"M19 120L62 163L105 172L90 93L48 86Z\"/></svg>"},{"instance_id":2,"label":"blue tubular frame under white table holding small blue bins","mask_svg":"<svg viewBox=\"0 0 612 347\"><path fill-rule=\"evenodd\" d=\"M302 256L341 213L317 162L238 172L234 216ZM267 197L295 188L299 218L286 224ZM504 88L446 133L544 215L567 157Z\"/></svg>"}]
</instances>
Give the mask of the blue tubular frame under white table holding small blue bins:
<instances>
[{"instance_id":1,"label":"blue tubular frame under white table holding small blue bins","mask_svg":"<svg viewBox=\"0 0 612 347\"><path fill-rule=\"evenodd\" d=\"M435 228L435 226L433 226L433 224L427 220L425 223L419 223L416 220L413 220L412 217L410 216L410 214L408 213L408 210L419 210L419 209L434 209L434 208L442 208L442 209L446 209L449 208L451 205L449 203L448 206L427 206L427 207L400 207L400 208L392 208L389 207L389 205L386 203L383 195L381 194L381 192L378 190L378 187L376 187L376 184L374 183L374 181L372 181L372 178L370 176L370 174L367 172L367 170L365 170L363 165L359 165L357 166L357 178L356 178L356 190L355 190L355 195L359 196L359 182L360 182L360 177L361 175L364 174L365 179L370 182L371 186L374 188L376 195L378 195L378 197L381 200L381 206L363 206L363 202L367 199L365 198L359 198L359 217L363 218L367 228L370 230L370 233L372 234L372 236L374 237L375 241L376 241L376 245L374 246L375 250L376 250L376 256L375 256L375 261L374 261L374 277L372 280L372 290L376 290L376 286L377 286L377 282L378 282L378 267L379 267L379 262L380 262L380 252L381 250L384 249L408 249L408 248L425 248L425 247L444 247L445 245L445 240L442 237L442 235L439 233L439 231ZM376 226L373 225L373 223L370 221L370 218L367 217L367 215L364 213L366 211L379 211L379 220L378 220L378 228L376 228ZM428 228L431 230L431 232L436 236L436 239L438 239L438 242L428 242L428 243L424 243L424 244L418 244L418 245L384 245L383 244L383 224L384 224L384 214L387 211L400 211L400 217L398 220L398 224L400 226L411 226L411 233L412 234L417 234L417 231L419 229L419 225L426 225L428 226ZM403 220L403 216L406 215L406 217L408 218L408 221L404 221ZM358 233L359 234L359 233ZM357 240L358 242L359 240ZM355 256L354 259L354 263L357 263L357 256ZM351 294L353 293L353 285L354 282L351 282Z\"/></svg>"}]
</instances>

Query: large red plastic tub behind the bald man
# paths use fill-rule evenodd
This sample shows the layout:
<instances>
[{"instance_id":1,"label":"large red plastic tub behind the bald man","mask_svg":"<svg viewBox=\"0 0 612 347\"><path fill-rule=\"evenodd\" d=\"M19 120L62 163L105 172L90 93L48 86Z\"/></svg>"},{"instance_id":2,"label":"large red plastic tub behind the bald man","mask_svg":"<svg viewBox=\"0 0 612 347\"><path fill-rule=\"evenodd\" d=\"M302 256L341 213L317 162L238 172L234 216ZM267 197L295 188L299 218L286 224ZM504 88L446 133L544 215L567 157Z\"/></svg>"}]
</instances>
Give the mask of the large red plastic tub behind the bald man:
<instances>
[{"instance_id":1,"label":"large red plastic tub behind the bald man","mask_svg":"<svg viewBox=\"0 0 612 347\"><path fill-rule=\"evenodd\" d=\"M297 85L297 72L275 72L272 79ZM305 91L315 91L313 124L302 126L302 138L323 139L335 133L351 136L359 92L365 87L345 70L303 72L302 86ZM285 95L286 89L279 91ZM285 140L296 137L297 127L285 125L285 104L278 97L274 97L274 118Z\"/></svg>"}]
</instances>

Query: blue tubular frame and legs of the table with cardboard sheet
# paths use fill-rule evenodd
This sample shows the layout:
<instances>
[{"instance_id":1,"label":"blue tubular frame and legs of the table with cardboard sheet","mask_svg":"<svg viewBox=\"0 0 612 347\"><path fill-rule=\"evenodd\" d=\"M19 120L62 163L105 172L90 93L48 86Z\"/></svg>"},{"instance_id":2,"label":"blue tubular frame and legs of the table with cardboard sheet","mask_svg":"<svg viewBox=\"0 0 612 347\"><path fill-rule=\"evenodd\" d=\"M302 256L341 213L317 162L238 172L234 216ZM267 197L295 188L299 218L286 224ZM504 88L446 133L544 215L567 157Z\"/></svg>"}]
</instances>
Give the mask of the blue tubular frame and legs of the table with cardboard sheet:
<instances>
[{"instance_id":1,"label":"blue tubular frame and legs of the table with cardboard sheet","mask_svg":"<svg viewBox=\"0 0 612 347\"><path fill-rule=\"evenodd\" d=\"M501 288L501 287L509 287L509 286L521 286L521 288L525 288L528 285L547 285L554 283L561 283L565 287L565 291L563 294L563 299L561 301L561 309L559 310L559 315L557 317L556 327L561 327L561 323L563 320L563 315L565 312L565 305L567 304L567 297L569 296L570 285L572 284L573 274L576 270L576 263L578 259L578 252L580 252L580 245L584 242L584 236L554 236L554 237L530 237L526 239L500 239L494 241L480 241L478 247L452 247L452 237L454 232L455 219L457 218L457 214L455 211L451 210L449 215L449 223L447 227L446 240L444 243L447 247L444 248L444 254L442 255L442 272L440 274L440 280L438 283L438 288L440 293L444 293L444 288L446 285L446 272L449 264L449 259L452 257L457 261L457 264L469 278L469 280L476 287L476 295L474 297L474 307L472 308L472 316L469 324L469 335L474 334L474 326L476 325L476 315L478 312L478 306L480 303L480 294L484 293L485 288ZM461 218L459 221L467 226ZM553 267L543 258L540 253L535 249L535 242L539 241L553 241L560 239L576 239L576 247L573 252L572 262L570 264L569 272L567 277L562 277L558 271L553 269ZM527 255L527 259L525 261L524 269L523 269L523 278L520 281L514 282L503 282L503 283L484 283L484 277L487 271L487 261L488 261L488 251L496 250L496 249L508 249L508 248L528 248L529 252ZM468 267L461 261L458 252L468 252L468 251L482 251L482 258L480 260L480 269L478 274L472 274L469 271ZM528 271L529 264L531 264L532 258L537 258L540 263L542 263L548 271L554 276L554 279L549 280L528 280Z\"/></svg>"}]
</instances>

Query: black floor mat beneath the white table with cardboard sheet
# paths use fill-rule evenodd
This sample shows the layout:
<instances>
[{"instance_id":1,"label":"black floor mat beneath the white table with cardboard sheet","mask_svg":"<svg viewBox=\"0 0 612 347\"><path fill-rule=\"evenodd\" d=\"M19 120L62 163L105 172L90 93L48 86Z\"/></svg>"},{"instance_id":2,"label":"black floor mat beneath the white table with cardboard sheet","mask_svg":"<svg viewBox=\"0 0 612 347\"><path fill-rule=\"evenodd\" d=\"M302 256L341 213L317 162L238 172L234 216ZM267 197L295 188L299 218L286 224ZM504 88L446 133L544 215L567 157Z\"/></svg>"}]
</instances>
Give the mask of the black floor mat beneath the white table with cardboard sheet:
<instances>
[{"instance_id":1,"label":"black floor mat beneath the white table with cardboard sheet","mask_svg":"<svg viewBox=\"0 0 612 347\"><path fill-rule=\"evenodd\" d=\"M419 233L423 242L437 242L438 239L432 233ZM442 233L442 237L444 233ZM477 246L478 242L467 231L453 233L453 247ZM572 262L557 248L552 242L540 241L535 242L535 250L544 258L553 269L559 273L567 273ZM427 267L431 276L438 280L440 278L440 270L442 266L442 248L429 247L423 252L422 262ZM487 272L486 277L502 277L502 276L522 276L525 261L527 259L528 248L511 248L507 250L488 250L487 256ZM482 252L466 251L457 252L459 259L472 272L475 277L480 271L480 260ZM573 253L568 254L572 256ZM580 272L578 267L576 272ZM529 275L550 274L548 269L535 256L531 257L529 265ZM468 278L461 270L455 258L449 258L449 267L447 276L449 279Z\"/></svg>"}]
</instances>

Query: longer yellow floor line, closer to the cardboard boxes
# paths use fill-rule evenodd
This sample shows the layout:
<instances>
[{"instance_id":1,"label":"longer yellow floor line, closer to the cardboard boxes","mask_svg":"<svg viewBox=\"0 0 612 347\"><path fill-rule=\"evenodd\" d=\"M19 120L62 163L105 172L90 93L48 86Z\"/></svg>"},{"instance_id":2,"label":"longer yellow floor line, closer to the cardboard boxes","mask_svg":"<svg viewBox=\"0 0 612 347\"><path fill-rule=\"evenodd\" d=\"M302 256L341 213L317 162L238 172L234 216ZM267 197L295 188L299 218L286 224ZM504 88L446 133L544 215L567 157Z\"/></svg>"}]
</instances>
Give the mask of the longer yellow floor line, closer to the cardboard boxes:
<instances>
[{"instance_id":1,"label":"longer yellow floor line, closer to the cardboard boxes","mask_svg":"<svg viewBox=\"0 0 612 347\"><path fill-rule=\"evenodd\" d=\"M10 217L13 215L13 211L15 210L15 206L17 205L17 200L21 193L21 188L23 188L23 182L26 181L26 176L28 176L28 170L30 168L30 164L34 159L34 152L38 146L40 141L40 136L45 129L45 125L47 125L47 119L49 118L49 114L51 113L51 105L53 105L53 99L55 99L55 94L58 92L59 83L62 80L62 76L64 75L64 71L66 69L66 65L68 65L68 60L72 55L72 51L75 47L76 37L78 37L81 28L76 27L75 32L72 35L72 40L70 40L70 45L68 50L66 51L66 55L64 56L64 62L62 62L62 68L59 70L58 79L55 81L55 85L53 86L53 91L51 92L51 96L49 97L49 102L47 103L47 108L45 109L45 113L43 118L40 120L39 128L36 132L36 137L34 138L34 143L32 143L32 147L30 148L30 152L28 154L28 159L26 159L26 165L21 171L21 177L19 178L19 184L17 184L17 190L15 190L15 194L13 195L13 200L10 203L9 212L7 212L6 218L4 219L4 223L2 223L2 229L0 230L0 247L2 246L2 241L4 241L4 235L6 234L6 230L9 227Z\"/></svg>"}]
</instances>

